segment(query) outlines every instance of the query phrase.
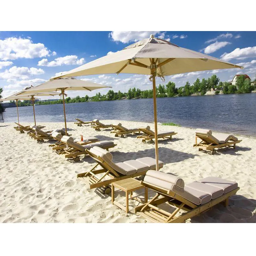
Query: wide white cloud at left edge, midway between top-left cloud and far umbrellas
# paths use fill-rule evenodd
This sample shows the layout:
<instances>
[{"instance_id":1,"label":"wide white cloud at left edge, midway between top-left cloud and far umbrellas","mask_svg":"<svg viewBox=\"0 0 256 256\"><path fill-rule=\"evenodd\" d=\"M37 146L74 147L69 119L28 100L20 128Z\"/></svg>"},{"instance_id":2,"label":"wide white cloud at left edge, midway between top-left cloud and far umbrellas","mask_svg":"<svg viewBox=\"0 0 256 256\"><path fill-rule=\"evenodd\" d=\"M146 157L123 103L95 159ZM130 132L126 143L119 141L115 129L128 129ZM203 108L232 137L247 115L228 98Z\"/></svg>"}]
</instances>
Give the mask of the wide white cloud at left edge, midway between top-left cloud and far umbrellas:
<instances>
[{"instance_id":1,"label":"wide white cloud at left edge, midway between top-left cloud and far umbrellas","mask_svg":"<svg viewBox=\"0 0 256 256\"><path fill-rule=\"evenodd\" d=\"M44 70L41 68L27 68L27 67L16 67L6 69L4 72L0 73L0 79L5 79L7 82L11 82L17 78L28 79L32 75L44 74Z\"/></svg>"}]
</instances>

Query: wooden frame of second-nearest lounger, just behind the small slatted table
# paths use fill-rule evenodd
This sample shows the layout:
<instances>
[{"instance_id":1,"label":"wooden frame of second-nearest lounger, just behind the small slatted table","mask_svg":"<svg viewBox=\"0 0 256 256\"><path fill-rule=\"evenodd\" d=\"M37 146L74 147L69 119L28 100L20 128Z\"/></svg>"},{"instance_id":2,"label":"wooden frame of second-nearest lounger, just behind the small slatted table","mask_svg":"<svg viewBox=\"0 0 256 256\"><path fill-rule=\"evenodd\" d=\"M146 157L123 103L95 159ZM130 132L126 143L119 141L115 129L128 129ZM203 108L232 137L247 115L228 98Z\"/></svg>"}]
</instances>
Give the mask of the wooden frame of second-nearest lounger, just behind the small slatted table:
<instances>
[{"instance_id":1,"label":"wooden frame of second-nearest lounger, just behind the small slatted table","mask_svg":"<svg viewBox=\"0 0 256 256\"><path fill-rule=\"evenodd\" d=\"M120 172L117 172L113 167L111 167L107 162L105 162L101 157L93 154L90 150L86 149L86 153L91 156L97 164L92 167L87 172L82 172L77 174L77 178L81 178L83 181L89 183L90 188L100 188L100 187L107 187L112 182L116 182L118 180L124 180L128 178L134 178L138 176L145 175L146 172L135 172L133 174L125 175ZM101 169L95 170L96 167L101 166ZM151 169L156 170L156 169ZM98 174L102 174L102 176L97 177ZM108 180L104 178L110 178Z\"/></svg>"}]
</instances>

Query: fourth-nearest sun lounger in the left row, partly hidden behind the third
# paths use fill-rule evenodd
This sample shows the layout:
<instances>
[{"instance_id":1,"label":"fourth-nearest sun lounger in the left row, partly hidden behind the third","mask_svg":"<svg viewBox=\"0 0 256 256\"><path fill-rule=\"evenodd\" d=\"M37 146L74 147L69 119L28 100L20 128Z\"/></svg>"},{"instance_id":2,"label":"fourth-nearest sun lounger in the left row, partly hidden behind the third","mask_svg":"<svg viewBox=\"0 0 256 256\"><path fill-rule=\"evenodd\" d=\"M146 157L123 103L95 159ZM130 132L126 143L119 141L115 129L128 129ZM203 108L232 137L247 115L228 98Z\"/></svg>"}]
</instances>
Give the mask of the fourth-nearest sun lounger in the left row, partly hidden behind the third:
<instances>
[{"instance_id":1,"label":"fourth-nearest sun lounger in the left row, partly hidden behind the third","mask_svg":"<svg viewBox=\"0 0 256 256\"><path fill-rule=\"evenodd\" d=\"M54 140L57 140L57 142L54 143L54 144L49 145L49 147L51 147L52 150L56 150L58 153L60 153L61 151L64 151L68 147L66 143L63 143L61 141L62 138L67 139L67 140L69 138L71 138L70 140L73 140L73 142L76 142L76 143L77 142L79 142L79 143L82 142L81 140L73 139L70 136L62 135L58 132L53 132L51 136ZM83 139L83 144L86 145L86 144L90 144L90 143L97 142L97 141L99 141L99 139L96 138L96 137L87 137L87 138Z\"/></svg>"}]
</instances>

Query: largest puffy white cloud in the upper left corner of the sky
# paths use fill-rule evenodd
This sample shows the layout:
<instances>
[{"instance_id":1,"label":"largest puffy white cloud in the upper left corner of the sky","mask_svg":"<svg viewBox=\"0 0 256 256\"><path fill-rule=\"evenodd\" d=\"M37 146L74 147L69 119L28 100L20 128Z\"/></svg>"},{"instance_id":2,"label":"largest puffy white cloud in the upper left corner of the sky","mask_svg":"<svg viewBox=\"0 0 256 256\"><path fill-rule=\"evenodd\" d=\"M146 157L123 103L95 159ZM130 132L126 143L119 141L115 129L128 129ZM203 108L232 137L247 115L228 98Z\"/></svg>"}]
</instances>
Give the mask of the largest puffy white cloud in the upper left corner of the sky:
<instances>
[{"instance_id":1,"label":"largest puffy white cloud in the upper left corner of the sky","mask_svg":"<svg viewBox=\"0 0 256 256\"><path fill-rule=\"evenodd\" d=\"M44 44L34 44L30 39L9 37L0 40L0 60L33 59L49 56L50 50Z\"/></svg>"}]
</instances>

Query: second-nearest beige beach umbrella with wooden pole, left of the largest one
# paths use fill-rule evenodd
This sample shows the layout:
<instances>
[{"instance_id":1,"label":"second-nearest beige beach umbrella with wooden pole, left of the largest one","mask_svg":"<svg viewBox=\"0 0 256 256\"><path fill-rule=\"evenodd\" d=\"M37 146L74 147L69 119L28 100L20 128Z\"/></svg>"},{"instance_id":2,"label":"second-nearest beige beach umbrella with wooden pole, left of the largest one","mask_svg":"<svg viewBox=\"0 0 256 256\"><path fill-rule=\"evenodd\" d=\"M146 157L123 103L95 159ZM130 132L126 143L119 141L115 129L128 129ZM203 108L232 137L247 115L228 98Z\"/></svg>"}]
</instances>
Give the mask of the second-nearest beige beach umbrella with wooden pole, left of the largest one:
<instances>
[{"instance_id":1,"label":"second-nearest beige beach umbrella with wooden pole, left of the largest one","mask_svg":"<svg viewBox=\"0 0 256 256\"><path fill-rule=\"evenodd\" d=\"M64 111L64 121L65 121L65 132L67 133L67 123L66 123L66 111L65 111L65 99L64 95L67 97L65 91L92 91L101 88L112 88L111 86L105 86L102 84L95 84L89 81L83 81L76 79L74 77L66 77L55 80L49 80L43 84L39 84L33 88L29 88L28 91L21 92L20 95L27 95L29 93L44 93L47 91L60 91L59 96L62 95L63 99L63 111Z\"/></svg>"}]
</instances>

